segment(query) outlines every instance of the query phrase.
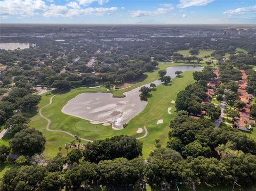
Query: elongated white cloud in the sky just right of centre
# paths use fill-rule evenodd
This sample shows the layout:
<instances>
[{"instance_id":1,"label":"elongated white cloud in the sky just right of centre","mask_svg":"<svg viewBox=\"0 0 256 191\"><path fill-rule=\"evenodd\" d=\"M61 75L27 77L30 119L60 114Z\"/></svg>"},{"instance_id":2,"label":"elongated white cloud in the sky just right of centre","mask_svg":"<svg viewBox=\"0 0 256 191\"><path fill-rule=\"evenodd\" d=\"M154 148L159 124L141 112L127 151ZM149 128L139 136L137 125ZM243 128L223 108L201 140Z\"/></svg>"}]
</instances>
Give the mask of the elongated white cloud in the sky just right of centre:
<instances>
[{"instance_id":1,"label":"elongated white cloud in the sky just right of centre","mask_svg":"<svg viewBox=\"0 0 256 191\"><path fill-rule=\"evenodd\" d=\"M162 6L166 8L158 8L155 11L130 11L130 14L132 17L140 17L140 16L156 16L161 14L166 14L169 11L173 10L173 6L171 4L161 4Z\"/></svg>"}]
</instances>

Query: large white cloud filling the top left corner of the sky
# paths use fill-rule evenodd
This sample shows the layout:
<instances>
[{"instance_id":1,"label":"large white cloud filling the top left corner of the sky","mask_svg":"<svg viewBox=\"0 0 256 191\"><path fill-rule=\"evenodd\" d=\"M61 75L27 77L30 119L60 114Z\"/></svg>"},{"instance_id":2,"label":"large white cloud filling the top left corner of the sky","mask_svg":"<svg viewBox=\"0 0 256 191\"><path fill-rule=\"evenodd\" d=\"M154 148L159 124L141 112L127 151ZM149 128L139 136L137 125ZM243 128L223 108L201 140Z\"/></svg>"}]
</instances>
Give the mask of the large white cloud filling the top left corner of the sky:
<instances>
[{"instance_id":1,"label":"large white cloud filling the top left corner of the sky","mask_svg":"<svg viewBox=\"0 0 256 191\"><path fill-rule=\"evenodd\" d=\"M1 17L7 18L10 15L21 17L38 14L38 10L44 10L46 5L42 0L4 0L0 2Z\"/></svg>"}]
</instances>

